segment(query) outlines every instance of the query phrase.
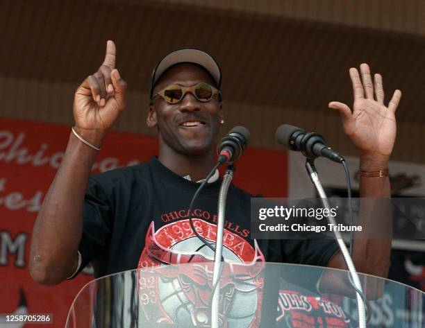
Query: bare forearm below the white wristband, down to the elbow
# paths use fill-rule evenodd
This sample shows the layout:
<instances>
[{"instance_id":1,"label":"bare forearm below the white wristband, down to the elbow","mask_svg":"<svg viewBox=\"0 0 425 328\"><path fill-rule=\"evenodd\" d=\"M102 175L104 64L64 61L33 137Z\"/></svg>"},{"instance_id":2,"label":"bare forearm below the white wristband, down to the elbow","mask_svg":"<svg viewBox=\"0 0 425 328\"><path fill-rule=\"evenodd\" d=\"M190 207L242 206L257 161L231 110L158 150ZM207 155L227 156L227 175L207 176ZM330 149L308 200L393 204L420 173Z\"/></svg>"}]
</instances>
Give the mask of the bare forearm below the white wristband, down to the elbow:
<instances>
[{"instance_id":1,"label":"bare forearm below the white wristband, down to the elbow","mask_svg":"<svg viewBox=\"0 0 425 328\"><path fill-rule=\"evenodd\" d=\"M83 202L97 152L69 137L63 162L33 228L30 272L42 284L57 284L76 268L83 230Z\"/></svg>"}]
</instances>

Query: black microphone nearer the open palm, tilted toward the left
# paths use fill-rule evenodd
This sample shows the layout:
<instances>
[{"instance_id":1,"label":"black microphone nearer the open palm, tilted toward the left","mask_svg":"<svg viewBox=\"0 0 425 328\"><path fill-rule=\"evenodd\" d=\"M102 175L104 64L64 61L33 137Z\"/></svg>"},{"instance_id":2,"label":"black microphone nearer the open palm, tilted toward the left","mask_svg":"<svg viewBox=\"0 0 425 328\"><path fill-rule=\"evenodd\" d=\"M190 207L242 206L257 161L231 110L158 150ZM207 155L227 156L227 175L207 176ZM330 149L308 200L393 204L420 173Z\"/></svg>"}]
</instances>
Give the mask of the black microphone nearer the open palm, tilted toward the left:
<instances>
[{"instance_id":1,"label":"black microphone nearer the open palm, tilted toward the left","mask_svg":"<svg viewBox=\"0 0 425 328\"><path fill-rule=\"evenodd\" d=\"M344 157L326 146L324 138L315 132L306 132L296 126L283 124L276 130L276 141L290 150L301 151L308 159L326 157L333 162L342 163Z\"/></svg>"}]
</instances>

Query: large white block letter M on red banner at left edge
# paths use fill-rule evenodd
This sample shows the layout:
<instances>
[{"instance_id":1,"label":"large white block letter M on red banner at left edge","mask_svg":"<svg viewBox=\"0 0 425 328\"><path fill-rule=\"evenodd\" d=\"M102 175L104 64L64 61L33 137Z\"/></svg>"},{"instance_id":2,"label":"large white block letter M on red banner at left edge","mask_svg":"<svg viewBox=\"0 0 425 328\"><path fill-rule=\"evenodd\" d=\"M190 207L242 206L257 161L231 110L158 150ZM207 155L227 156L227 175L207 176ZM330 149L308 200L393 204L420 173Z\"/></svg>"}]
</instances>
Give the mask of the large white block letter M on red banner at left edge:
<instances>
[{"instance_id":1,"label":"large white block letter M on red banner at left edge","mask_svg":"<svg viewBox=\"0 0 425 328\"><path fill-rule=\"evenodd\" d=\"M22 268L25 266L25 245L28 240L28 234L21 232L17 234L15 241L12 240L10 232L0 232L0 265L8 265L8 255L17 254L15 266Z\"/></svg>"}]
</instances>

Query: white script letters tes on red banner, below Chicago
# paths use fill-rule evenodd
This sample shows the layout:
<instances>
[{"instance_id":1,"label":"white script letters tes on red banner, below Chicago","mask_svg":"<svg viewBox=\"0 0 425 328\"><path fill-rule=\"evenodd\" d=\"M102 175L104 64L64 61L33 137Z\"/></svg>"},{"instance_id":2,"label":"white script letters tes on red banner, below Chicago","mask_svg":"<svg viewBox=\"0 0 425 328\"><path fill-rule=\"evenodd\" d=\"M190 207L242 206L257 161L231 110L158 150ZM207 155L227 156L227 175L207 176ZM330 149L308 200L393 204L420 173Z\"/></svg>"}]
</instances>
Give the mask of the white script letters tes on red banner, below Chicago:
<instances>
[{"instance_id":1,"label":"white script letters tes on red banner, below Chicago","mask_svg":"<svg viewBox=\"0 0 425 328\"><path fill-rule=\"evenodd\" d=\"M6 178L0 178L0 192L4 191L6 187ZM6 196L0 193L0 206L4 206L10 211L17 211L18 209L25 208L27 212L38 212L42 205L44 193L42 191L35 191L35 194L30 199L25 199L22 193L13 191L7 193Z\"/></svg>"}]
</instances>

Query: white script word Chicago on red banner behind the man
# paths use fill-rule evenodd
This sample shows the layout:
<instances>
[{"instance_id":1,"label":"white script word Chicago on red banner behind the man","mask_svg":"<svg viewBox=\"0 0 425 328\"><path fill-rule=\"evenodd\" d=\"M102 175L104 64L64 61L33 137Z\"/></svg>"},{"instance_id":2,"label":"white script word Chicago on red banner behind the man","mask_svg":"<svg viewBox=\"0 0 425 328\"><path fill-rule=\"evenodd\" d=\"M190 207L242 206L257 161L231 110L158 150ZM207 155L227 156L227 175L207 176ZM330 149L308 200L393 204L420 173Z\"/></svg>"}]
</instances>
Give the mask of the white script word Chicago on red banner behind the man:
<instances>
[{"instance_id":1,"label":"white script word Chicago on red banner behind the man","mask_svg":"<svg viewBox=\"0 0 425 328\"><path fill-rule=\"evenodd\" d=\"M43 166L49 164L53 169L58 169L60 162L62 162L64 152L56 152L52 155L45 155L46 150L49 148L48 144L40 144L37 153L30 154L28 148L22 146L26 134L20 132L14 135L13 132L8 130L0 131L0 162L13 163L23 165L30 163L33 166ZM131 159L126 166L140 164L138 159ZM119 158L107 157L101 161L94 163L92 171L99 169L100 172L106 172L112 169L117 169L122 165L119 164Z\"/></svg>"}]
</instances>

